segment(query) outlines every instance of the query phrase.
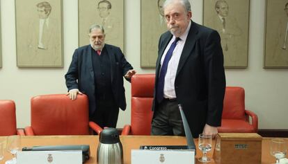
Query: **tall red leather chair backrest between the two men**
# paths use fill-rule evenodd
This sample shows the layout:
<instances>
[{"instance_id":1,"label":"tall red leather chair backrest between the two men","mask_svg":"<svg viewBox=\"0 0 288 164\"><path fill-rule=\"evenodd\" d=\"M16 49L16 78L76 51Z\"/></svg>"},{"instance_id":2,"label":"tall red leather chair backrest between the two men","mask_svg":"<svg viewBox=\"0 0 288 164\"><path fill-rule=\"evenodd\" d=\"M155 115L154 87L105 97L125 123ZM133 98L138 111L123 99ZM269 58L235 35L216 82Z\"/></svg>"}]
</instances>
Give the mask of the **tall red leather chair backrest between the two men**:
<instances>
[{"instance_id":1,"label":"tall red leather chair backrest between the two men","mask_svg":"<svg viewBox=\"0 0 288 164\"><path fill-rule=\"evenodd\" d=\"M150 135L154 74L136 74L131 78L131 134Z\"/></svg>"}]
</instances>

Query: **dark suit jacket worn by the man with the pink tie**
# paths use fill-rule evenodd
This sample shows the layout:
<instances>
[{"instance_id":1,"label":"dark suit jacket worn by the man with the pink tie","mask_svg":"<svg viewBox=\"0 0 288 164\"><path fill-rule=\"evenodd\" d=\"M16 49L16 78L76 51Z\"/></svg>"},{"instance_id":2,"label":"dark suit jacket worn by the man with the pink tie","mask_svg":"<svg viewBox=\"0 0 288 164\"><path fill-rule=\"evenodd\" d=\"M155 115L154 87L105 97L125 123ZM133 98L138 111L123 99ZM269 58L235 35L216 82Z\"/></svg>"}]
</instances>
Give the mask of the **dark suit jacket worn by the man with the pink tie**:
<instances>
[{"instance_id":1,"label":"dark suit jacket worn by the man with the pink tie","mask_svg":"<svg viewBox=\"0 0 288 164\"><path fill-rule=\"evenodd\" d=\"M123 76L133 67L125 60L119 47L109 44L105 44L104 47L110 58L113 95L118 107L124 111L126 109L126 100ZM77 48L74 51L69 70L65 75L68 91L79 89L79 91L88 95L90 114L95 111L97 103L95 102L95 80L91 49L90 45Z\"/></svg>"}]
</instances>

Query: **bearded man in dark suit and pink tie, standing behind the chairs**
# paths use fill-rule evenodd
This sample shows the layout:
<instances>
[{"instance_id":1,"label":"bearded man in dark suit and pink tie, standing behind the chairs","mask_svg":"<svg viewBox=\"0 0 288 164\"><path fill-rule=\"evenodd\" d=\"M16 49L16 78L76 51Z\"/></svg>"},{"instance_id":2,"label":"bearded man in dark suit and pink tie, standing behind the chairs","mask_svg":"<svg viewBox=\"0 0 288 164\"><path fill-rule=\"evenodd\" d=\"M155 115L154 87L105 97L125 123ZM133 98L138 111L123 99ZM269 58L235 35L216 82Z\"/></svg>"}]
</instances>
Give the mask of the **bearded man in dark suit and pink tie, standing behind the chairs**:
<instances>
[{"instance_id":1,"label":"bearded man in dark suit and pink tie, standing behind the chairs","mask_svg":"<svg viewBox=\"0 0 288 164\"><path fill-rule=\"evenodd\" d=\"M105 44L104 29L93 25L89 30L90 45L74 51L65 75L67 95L89 98L89 118L100 127L116 127L119 107L126 109L123 76L130 80L136 73L119 47Z\"/></svg>"}]
</instances>

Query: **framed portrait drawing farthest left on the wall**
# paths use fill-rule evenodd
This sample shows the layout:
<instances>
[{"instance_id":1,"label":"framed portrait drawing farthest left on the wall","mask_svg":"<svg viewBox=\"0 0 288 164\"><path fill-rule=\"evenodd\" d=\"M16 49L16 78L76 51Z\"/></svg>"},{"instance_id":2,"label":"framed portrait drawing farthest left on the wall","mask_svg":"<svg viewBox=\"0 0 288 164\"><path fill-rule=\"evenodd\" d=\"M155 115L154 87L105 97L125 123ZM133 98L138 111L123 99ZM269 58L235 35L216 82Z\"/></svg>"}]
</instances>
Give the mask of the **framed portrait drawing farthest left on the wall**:
<instances>
[{"instance_id":1,"label":"framed portrait drawing farthest left on the wall","mask_svg":"<svg viewBox=\"0 0 288 164\"><path fill-rule=\"evenodd\" d=\"M16 0L18 67L63 67L62 0Z\"/></svg>"}]
</instances>

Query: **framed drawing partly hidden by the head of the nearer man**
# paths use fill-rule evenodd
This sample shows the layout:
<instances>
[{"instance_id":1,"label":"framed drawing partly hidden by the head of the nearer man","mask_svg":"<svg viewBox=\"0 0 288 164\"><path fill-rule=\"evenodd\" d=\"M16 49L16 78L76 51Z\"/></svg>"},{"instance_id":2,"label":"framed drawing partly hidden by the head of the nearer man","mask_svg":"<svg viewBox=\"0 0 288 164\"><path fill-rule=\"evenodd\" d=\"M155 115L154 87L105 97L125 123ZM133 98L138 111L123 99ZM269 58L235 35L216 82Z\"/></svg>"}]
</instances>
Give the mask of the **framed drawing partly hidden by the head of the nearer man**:
<instances>
[{"instance_id":1,"label":"framed drawing partly hidden by the head of the nearer man","mask_svg":"<svg viewBox=\"0 0 288 164\"><path fill-rule=\"evenodd\" d=\"M167 30L163 12L165 0L141 0L141 67L155 68L158 42Z\"/></svg>"}]
</instances>

